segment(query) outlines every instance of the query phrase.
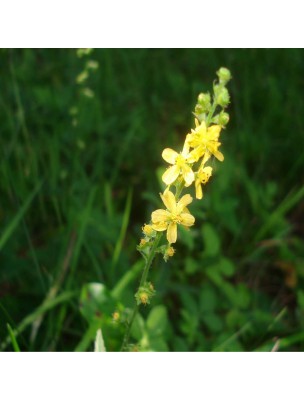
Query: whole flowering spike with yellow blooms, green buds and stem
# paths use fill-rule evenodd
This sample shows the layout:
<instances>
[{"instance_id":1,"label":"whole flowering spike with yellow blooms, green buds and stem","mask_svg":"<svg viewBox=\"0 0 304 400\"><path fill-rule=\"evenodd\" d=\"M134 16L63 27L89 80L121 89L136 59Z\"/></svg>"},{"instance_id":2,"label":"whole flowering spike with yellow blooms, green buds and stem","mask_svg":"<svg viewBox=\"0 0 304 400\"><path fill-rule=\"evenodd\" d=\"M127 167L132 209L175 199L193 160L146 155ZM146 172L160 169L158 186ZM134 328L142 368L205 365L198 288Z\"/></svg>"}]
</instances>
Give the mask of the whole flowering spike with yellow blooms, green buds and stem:
<instances>
[{"instance_id":1,"label":"whole flowering spike with yellow blooms, green buds and stem","mask_svg":"<svg viewBox=\"0 0 304 400\"><path fill-rule=\"evenodd\" d=\"M226 85L231 79L231 73L227 68L220 68L217 76L212 95L200 93L198 96L193 113L195 127L186 134L182 151L166 148L162 152L162 158L169 164L162 176L166 184L165 191L160 193L163 208L153 211L150 222L142 228L143 237L137 249L145 265L135 293L135 306L126 322L122 350L128 349L131 327L139 307L149 304L155 295L155 289L148 279L155 255L161 253L165 261L174 256L173 244L178 238L178 226L190 229L195 223L195 217L188 208L193 201L187 193L189 187L194 185L196 199L202 199L203 188L212 176L212 167L208 163L212 157L224 161L219 150L219 139L229 122L229 114L225 111L230 102Z\"/></svg>"}]
</instances>

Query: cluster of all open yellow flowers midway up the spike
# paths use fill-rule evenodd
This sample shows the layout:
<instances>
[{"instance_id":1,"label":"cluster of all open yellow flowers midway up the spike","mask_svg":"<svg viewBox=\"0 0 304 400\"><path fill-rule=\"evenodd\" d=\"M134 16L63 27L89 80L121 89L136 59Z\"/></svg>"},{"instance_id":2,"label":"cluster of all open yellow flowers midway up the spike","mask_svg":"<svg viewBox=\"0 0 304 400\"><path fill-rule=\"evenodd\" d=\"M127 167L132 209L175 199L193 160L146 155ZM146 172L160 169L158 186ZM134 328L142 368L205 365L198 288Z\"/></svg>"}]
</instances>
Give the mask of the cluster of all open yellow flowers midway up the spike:
<instances>
[{"instance_id":1,"label":"cluster of all open yellow flowers midway up the spike","mask_svg":"<svg viewBox=\"0 0 304 400\"><path fill-rule=\"evenodd\" d=\"M221 126L211 125L207 128L205 121L200 123L197 119L195 119L195 125L195 129L191 129L191 132L186 135L180 154L169 148L162 153L163 159L171 164L162 176L167 188L160 196L166 209L152 212L151 226L158 232L167 231L167 240L170 244L177 240L178 225L189 228L195 222L195 218L187 209L193 199L190 194L185 194L178 199L178 188L189 187L194 182L196 198L202 199L202 186L212 175L212 167L205 164L212 155L220 161L224 160L223 154L218 150L221 145L219 142ZM200 166L195 171L194 166L200 160ZM175 195L170 190L172 184L176 186Z\"/></svg>"}]
</instances>

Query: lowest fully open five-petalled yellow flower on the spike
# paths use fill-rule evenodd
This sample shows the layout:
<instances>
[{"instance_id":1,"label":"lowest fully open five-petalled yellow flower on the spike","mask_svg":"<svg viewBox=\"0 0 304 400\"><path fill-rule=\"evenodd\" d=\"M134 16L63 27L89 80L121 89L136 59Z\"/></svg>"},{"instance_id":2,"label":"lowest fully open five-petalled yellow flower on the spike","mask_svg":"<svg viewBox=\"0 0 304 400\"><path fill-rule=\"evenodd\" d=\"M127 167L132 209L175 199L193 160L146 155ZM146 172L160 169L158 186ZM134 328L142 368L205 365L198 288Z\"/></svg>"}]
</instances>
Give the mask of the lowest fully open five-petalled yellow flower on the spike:
<instances>
[{"instance_id":1,"label":"lowest fully open five-petalled yellow flower on the spike","mask_svg":"<svg viewBox=\"0 0 304 400\"><path fill-rule=\"evenodd\" d=\"M187 210L187 205L192 202L190 194L185 194L178 202L169 190L160 194L166 210L159 209L152 213L153 229L156 231L167 230L167 240L175 243L177 239L177 225L192 226L195 222L193 215Z\"/></svg>"}]
</instances>

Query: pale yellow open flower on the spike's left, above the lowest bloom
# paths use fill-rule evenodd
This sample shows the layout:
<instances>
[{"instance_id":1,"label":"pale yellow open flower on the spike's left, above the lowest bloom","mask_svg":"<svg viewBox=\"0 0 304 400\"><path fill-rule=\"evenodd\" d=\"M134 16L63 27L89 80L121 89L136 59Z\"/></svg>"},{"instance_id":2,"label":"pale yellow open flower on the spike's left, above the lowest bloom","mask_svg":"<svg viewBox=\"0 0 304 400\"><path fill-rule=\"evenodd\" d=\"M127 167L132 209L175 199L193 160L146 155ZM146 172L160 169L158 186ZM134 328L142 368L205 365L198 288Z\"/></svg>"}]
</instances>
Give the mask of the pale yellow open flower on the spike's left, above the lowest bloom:
<instances>
[{"instance_id":1,"label":"pale yellow open flower on the spike's left, above the lowest bloom","mask_svg":"<svg viewBox=\"0 0 304 400\"><path fill-rule=\"evenodd\" d=\"M162 157L169 164L172 164L162 176L163 182L166 185L171 185L178 176L181 174L186 182L186 186L190 186L194 181L194 172L189 166L189 162L193 162L191 153L189 153L189 146L185 143L183 151L178 154L172 149L165 149L162 153Z\"/></svg>"}]
</instances>

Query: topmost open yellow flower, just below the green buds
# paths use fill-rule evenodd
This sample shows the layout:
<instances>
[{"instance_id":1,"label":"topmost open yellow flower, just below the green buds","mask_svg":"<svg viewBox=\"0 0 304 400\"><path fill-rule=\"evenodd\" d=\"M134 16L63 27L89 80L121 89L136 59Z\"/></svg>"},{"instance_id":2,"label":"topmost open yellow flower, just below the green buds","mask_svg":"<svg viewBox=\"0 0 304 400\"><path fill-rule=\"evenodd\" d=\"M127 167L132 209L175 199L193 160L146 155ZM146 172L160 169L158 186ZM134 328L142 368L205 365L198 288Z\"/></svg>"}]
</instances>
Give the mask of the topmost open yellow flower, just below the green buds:
<instances>
[{"instance_id":1,"label":"topmost open yellow flower, just below the green buds","mask_svg":"<svg viewBox=\"0 0 304 400\"><path fill-rule=\"evenodd\" d=\"M191 129L186 137L186 143L193 147L191 152L192 159L198 161L204 154L213 154L219 161L224 161L223 154L218 150L221 143L218 141L221 126L212 125L207 129L205 121L201 124L195 119L195 129Z\"/></svg>"}]
</instances>

